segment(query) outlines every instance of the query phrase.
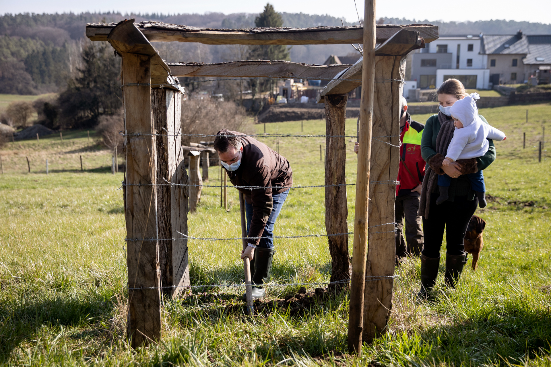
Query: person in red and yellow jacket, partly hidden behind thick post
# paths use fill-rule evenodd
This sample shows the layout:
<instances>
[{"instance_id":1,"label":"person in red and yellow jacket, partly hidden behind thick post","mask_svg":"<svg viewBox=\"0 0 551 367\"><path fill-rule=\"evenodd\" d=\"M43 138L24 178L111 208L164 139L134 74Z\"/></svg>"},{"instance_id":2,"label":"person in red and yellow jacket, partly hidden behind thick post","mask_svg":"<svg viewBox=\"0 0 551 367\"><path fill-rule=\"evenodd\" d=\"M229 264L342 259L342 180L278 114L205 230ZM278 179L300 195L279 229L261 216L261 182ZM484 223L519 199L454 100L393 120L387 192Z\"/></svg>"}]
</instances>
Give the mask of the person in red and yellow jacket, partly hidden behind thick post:
<instances>
[{"instance_id":1,"label":"person in red and yellow jacket, partly hidden behind thick post","mask_svg":"<svg viewBox=\"0 0 551 367\"><path fill-rule=\"evenodd\" d=\"M406 98L400 98L400 163L396 185L395 219L396 227L396 261L405 256L420 256L423 250L423 229L421 217L418 216L419 200L425 161L421 156L421 137L425 125L412 120L407 112ZM354 146L358 153L359 143ZM404 231L403 221L406 222ZM404 240L404 232L406 239Z\"/></svg>"}]
</instances>

